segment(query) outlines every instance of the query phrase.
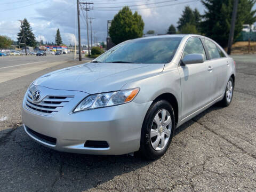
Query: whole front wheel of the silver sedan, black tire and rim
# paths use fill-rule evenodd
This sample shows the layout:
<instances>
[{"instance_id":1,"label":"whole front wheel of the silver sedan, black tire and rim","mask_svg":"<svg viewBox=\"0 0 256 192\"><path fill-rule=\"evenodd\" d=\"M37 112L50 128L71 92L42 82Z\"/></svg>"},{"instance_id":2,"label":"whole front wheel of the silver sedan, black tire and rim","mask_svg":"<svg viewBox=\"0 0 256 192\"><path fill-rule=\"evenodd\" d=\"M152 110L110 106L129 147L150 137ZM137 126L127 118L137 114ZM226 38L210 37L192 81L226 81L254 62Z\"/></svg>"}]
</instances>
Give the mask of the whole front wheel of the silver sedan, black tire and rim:
<instances>
[{"instance_id":1,"label":"whole front wheel of the silver sedan, black tire and rim","mask_svg":"<svg viewBox=\"0 0 256 192\"><path fill-rule=\"evenodd\" d=\"M164 113L166 115L163 119ZM159 120L158 123L157 119ZM163 156L170 146L174 129L174 111L170 103L165 100L154 102L148 109L143 121L139 153L143 157L152 160Z\"/></svg>"}]
</instances>

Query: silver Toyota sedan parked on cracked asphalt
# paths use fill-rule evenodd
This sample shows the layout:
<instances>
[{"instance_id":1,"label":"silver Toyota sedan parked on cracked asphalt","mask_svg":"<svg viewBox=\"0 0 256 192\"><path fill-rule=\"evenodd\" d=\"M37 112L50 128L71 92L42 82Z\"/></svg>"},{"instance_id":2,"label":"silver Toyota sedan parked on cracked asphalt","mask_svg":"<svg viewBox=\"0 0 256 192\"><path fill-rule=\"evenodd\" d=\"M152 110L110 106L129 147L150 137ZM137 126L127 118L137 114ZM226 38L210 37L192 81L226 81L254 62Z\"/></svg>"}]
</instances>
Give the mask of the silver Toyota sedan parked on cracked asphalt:
<instances>
[{"instance_id":1,"label":"silver Toyota sedan parked on cracked asphalt","mask_svg":"<svg viewBox=\"0 0 256 192\"><path fill-rule=\"evenodd\" d=\"M23 127L59 151L139 151L155 159L177 127L216 102L227 107L234 83L235 62L210 38L133 39L89 63L36 79L23 100Z\"/></svg>"}]
</instances>

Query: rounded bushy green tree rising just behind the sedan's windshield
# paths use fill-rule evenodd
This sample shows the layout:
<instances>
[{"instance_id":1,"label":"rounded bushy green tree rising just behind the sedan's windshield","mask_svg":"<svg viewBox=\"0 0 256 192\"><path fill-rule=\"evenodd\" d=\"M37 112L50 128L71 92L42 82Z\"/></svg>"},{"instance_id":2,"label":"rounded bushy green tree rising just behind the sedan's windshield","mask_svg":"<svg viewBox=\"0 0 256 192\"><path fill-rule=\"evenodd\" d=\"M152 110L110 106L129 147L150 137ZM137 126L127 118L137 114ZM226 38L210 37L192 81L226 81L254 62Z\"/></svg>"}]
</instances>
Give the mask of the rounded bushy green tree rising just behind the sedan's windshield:
<instances>
[{"instance_id":1,"label":"rounded bushy green tree rising just behind the sedan's windshield","mask_svg":"<svg viewBox=\"0 0 256 192\"><path fill-rule=\"evenodd\" d=\"M128 39L142 37L144 22L136 11L128 6L123 7L114 17L109 28L109 36L113 43L118 44Z\"/></svg>"}]
</instances>

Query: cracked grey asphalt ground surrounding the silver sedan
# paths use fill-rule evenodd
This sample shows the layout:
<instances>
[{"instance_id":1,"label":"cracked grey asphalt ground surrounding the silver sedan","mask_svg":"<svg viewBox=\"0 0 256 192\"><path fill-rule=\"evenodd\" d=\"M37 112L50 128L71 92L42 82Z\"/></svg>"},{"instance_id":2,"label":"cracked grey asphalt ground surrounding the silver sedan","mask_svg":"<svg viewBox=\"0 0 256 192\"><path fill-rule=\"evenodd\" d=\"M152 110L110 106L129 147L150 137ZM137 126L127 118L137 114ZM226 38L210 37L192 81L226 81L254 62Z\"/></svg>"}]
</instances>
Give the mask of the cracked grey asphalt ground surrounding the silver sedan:
<instances>
[{"instance_id":1,"label":"cracked grey asphalt ground surrounding the silver sedan","mask_svg":"<svg viewBox=\"0 0 256 192\"><path fill-rule=\"evenodd\" d=\"M27 86L75 63L0 83L0 191L256 191L256 56L234 58L231 105L183 124L156 161L61 153L27 136L20 116Z\"/></svg>"}]
</instances>

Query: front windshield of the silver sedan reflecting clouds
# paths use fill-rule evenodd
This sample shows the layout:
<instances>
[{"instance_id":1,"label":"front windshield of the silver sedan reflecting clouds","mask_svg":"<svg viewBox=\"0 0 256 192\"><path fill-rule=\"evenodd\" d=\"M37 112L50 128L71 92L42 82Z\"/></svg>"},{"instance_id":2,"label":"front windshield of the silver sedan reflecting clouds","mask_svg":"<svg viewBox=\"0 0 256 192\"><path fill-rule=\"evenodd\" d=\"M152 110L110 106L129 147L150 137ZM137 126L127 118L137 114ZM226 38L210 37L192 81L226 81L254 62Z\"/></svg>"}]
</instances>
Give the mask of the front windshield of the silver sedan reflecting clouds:
<instances>
[{"instance_id":1,"label":"front windshield of the silver sedan reflecting clouds","mask_svg":"<svg viewBox=\"0 0 256 192\"><path fill-rule=\"evenodd\" d=\"M121 43L92 62L167 63L182 37L135 39Z\"/></svg>"}]
</instances>

